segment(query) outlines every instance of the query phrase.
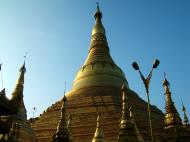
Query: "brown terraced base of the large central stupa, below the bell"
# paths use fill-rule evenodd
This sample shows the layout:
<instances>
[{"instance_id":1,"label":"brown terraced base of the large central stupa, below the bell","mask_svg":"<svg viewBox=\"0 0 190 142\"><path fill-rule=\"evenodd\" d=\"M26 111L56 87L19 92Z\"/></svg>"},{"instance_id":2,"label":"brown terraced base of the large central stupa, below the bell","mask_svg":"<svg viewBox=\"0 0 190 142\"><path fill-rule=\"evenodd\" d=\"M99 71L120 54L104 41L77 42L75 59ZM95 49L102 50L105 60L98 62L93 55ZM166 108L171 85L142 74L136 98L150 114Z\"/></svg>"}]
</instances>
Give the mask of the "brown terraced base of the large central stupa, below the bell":
<instances>
[{"instance_id":1,"label":"brown terraced base of the large central stupa, below the bell","mask_svg":"<svg viewBox=\"0 0 190 142\"><path fill-rule=\"evenodd\" d=\"M101 113L102 128L107 142L116 142L121 117L121 89L114 87L89 87L70 91L67 96L67 113L71 113L71 132L74 142L92 141L96 129L97 109ZM92 97L93 96L93 97ZM135 121L146 142L150 141L150 128L147 103L138 95L127 90L129 103L132 106ZM61 101L49 107L38 120L32 123L39 142L51 142L60 119ZM163 113L151 107L154 136L159 142Z\"/></svg>"}]
</instances>

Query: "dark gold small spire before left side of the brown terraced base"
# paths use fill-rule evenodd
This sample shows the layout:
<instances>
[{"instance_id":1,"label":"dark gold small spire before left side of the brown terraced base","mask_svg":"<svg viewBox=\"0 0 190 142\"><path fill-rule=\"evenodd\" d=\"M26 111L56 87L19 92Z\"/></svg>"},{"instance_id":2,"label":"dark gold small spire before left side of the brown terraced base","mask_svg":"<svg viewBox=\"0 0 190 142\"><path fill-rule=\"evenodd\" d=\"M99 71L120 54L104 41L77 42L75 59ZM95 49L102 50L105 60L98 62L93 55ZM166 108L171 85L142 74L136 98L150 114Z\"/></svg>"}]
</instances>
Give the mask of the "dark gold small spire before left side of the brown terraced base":
<instances>
[{"instance_id":1,"label":"dark gold small spire before left side of the brown terraced base","mask_svg":"<svg viewBox=\"0 0 190 142\"><path fill-rule=\"evenodd\" d=\"M71 117L69 120L66 120L66 96L64 95L62 99L62 107L61 107L61 119L58 123L57 130L55 134L53 135L53 142L72 142L73 140L71 139L70 136L70 131L69 131L69 126L70 126L70 121Z\"/></svg>"}]
</instances>

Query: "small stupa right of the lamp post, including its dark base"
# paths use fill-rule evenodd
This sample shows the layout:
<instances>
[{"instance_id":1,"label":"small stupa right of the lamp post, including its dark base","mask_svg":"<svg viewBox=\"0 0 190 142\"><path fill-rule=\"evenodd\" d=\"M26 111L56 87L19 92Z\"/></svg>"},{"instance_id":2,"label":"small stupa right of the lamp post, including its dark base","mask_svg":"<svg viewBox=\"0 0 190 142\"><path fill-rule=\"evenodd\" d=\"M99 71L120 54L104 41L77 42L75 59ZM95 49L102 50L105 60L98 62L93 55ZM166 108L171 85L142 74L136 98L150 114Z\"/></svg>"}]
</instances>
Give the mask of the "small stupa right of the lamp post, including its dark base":
<instances>
[{"instance_id":1,"label":"small stupa right of the lamp post, including its dark base","mask_svg":"<svg viewBox=\"0 0 190 142\"><path fill-rule=\"evenodd\" d=\"M182 120L177 112L174 102L171 97L170 84L168 80L165 79L163 82L165 90L165 100L166 100L166 112L165 112L165 128L163 132L164 142L189 142L190 140L190 129L182 125Z\"/></svg>"}]
</instances>

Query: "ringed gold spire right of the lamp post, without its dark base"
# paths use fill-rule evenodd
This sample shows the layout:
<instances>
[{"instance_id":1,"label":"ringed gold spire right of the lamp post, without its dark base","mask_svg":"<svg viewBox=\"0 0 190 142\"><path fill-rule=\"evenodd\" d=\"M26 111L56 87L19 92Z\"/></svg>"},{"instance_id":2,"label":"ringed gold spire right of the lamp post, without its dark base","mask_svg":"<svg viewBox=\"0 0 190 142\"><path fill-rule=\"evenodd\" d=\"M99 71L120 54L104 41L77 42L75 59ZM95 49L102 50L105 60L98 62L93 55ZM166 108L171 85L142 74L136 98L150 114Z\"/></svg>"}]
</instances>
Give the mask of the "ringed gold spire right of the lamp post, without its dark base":
<instances>
[{"instance_id":1,"label":"ringed gold spire right of the lamp post, without its dark base","mask_svg":"<svg viewBox=\"0 0 190 142\"><path fill-rule=\"evenodd\" d=\"M179 116L179 113L177 112L177 109L171 97L170 84L166 79L166 75L163 82L163 86L165 90L165 101L166 101L165 126L170 127L170 126L182 125L181 118Z\"/></svg>"}]
</instances>

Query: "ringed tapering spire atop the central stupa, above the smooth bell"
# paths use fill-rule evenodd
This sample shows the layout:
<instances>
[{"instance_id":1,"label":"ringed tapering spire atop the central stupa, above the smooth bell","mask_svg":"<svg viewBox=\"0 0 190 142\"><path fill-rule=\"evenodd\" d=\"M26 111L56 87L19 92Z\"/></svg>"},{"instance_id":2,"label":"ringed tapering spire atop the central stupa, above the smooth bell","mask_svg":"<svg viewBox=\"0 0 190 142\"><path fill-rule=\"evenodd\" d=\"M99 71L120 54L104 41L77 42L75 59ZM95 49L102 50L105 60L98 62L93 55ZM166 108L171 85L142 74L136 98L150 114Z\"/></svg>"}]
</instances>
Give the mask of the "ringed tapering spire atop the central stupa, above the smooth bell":
<instances>
[{"instance_id":1,"label":"ringed tapering spire atop the central stupa, above the smooth bell","mask_svg":"<svg viewBox=\"0 0 190 142\"><path fill-rule=\"evenodd\" d=\"M115 65L109 54L106 32L102 24L102 12L100 11L99 5L97 5L94 18L95 25L92 29L89 55L84 63L84 67L89 64L95 65L96 63L109 63Z\"/></svg>"}]
</instances>

